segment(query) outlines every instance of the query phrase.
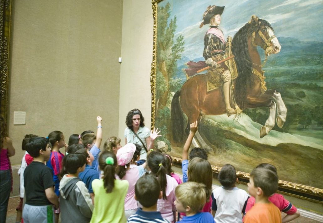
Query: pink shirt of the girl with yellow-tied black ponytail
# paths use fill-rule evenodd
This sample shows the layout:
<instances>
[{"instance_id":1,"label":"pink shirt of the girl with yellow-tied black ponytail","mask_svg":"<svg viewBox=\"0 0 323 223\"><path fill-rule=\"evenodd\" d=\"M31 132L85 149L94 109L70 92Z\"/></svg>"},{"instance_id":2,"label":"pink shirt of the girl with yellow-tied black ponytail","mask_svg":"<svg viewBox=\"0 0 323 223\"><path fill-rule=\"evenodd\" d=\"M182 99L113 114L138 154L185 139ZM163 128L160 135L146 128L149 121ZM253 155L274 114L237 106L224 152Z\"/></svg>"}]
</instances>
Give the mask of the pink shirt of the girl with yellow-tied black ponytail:
<instances>
[{"instance_id":1,"label":"pink shirt of the girl with yellow-tied black ponytail","mask_svg":"<svg viewBox=\"0 0 323 223\"><path fill-rule=\"evenodd\" d=\"M166 174L167 186L166 186L166 197L167 200L158 199L157 200L157 211L161 212L161 217L166 218L168 221L173 222L174 216L173 211L176 211L174 205L175 197L175 188L178 186L178 183L174 178Z\"/></svg>"}]
</instances>

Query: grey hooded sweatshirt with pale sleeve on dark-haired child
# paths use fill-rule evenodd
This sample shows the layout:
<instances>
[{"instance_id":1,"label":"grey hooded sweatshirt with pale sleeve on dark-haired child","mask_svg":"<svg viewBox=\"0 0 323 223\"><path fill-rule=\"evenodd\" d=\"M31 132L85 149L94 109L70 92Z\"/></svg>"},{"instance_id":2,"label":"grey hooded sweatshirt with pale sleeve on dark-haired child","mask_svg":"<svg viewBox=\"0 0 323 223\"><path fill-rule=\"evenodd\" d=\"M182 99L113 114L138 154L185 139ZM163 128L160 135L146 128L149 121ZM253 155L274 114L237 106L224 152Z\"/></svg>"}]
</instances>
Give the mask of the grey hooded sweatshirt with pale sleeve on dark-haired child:
<instances>
[{"instance_id":1,"label":"grey hooded sweatshirt with pale sleeve on dark-haired child","mask_svg":"<svg viewBox=\"0 0 323 223\"><path fill-rule=\"evenodd\" d=\"M64 175L59 191L62 223L89 223L94 206L85 183L77 177Z\"/></svg>"}]
</instances>

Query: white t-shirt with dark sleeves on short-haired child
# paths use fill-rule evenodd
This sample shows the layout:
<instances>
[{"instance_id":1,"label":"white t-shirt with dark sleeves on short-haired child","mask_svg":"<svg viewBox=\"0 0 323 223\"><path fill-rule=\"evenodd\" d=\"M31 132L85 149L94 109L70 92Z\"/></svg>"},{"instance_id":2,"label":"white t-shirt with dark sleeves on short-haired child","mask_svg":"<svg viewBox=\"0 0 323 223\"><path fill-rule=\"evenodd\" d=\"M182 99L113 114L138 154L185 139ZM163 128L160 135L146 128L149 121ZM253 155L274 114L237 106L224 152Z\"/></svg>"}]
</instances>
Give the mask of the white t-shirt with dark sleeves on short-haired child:
<instances>
[{"instance_id":1,"label":"white t-shirt with dark sleeves on short-haired child","mask_svg":"<svg viewBox=\"0 0 323 223\"><path fill-rule=\"evenodd\" d=\"M212 210L216 210L216 223L242 223L242 211L249 195L237 187L218 187L212 191Z\"/></svg>"}]
</instances>

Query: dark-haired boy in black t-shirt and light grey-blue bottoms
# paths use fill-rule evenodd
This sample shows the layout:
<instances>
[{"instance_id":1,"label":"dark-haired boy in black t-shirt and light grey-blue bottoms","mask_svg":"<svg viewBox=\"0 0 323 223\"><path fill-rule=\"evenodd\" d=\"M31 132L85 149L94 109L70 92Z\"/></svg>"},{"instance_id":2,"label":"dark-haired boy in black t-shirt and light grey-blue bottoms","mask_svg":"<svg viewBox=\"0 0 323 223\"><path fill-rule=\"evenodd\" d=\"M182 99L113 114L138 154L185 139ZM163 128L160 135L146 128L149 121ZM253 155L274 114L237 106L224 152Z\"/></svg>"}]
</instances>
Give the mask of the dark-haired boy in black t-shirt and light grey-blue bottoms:
<instances>
[{"instance_id":1,"label":"dark-haired boy in black t-shirt and light grey-blue bottoms","mask_svg":"<svg viewBox=\"0 0 323 223\"><path fill-rule=\"evenodd\" d=\"M25 223L54 222L54 209L59 206L54 192L52 171L44 164L50 157L48 139L35 137L26 144L27 152L34 157L34 161L26 167L24 172L24 186L26 204L23 210Z\"/></svg>"}]
</instances>

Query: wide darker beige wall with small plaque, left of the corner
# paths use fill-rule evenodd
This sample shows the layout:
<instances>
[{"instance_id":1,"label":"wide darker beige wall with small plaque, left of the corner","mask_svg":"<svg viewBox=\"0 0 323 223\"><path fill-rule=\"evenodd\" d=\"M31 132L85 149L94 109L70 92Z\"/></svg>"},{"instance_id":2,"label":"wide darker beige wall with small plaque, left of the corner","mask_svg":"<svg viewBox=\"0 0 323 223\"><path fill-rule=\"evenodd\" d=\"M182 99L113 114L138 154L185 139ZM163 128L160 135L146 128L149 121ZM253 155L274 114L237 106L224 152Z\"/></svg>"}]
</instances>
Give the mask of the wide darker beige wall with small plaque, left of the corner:
<instances>
[{"instance_id":1,"label":"wide darker beige wall with small plaque, left of the corner","mask_svg":"<svg viewBox=\"0 0 323 223\"><path fill-rule=\"evenodd\" d=\"M117 134L122 0L13 1L9 135L20 164L25 134ZM14 111L26 125L13 125ZM64 151L64 149L61 149Z\"/></svg>"}]
</instances>

